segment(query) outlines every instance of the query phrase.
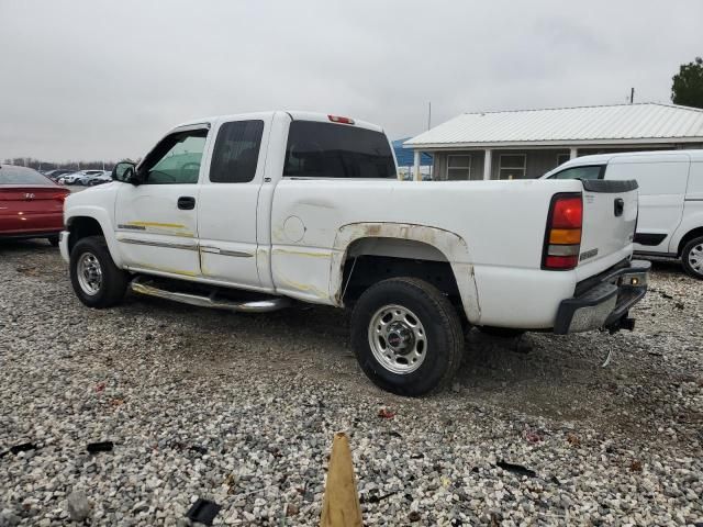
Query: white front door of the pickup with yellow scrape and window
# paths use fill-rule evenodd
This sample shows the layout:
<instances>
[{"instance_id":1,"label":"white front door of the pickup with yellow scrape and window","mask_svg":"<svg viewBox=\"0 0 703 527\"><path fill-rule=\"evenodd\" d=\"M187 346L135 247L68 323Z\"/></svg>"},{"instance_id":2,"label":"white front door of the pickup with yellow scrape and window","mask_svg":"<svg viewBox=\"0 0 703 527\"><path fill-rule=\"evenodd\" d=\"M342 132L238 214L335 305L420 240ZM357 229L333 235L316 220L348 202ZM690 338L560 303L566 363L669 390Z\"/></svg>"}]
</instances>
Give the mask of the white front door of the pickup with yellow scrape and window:
<instances>
[{"instance_id":1,"label":"white front door of the pickup with yellow scrape and window","mask_svg":"<svg viewBox=\"0 0 703 527\"><path fill-rule=\"evenodd\" d=\"M197 125L167 135L140 164L140 183L121 186L115 238L130 269L200 274L197 195L208 132Z\"/></svg>"}]
</instances>

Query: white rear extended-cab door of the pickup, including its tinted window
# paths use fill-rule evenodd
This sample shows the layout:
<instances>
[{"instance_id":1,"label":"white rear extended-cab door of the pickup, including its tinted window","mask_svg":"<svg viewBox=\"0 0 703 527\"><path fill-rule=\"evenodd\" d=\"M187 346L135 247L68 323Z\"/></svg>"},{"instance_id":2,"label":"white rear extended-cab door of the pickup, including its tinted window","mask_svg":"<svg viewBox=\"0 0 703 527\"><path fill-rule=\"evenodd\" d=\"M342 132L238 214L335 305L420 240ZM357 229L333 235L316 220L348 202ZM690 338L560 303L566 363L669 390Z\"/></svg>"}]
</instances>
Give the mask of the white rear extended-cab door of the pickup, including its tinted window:
<instances>
[{"instance_id":1,"label":"white rear extended-cab door of the pickup, including its tinted window","mask_svg":"<svg viewBox=\"0 0 703 527\"><path fill-rule=\"evenodd\" d=\"M203 277L258 289L257 212L271 116L225 119L215 125L212 156L198 198Z\"/></svg>"}]
</instances>

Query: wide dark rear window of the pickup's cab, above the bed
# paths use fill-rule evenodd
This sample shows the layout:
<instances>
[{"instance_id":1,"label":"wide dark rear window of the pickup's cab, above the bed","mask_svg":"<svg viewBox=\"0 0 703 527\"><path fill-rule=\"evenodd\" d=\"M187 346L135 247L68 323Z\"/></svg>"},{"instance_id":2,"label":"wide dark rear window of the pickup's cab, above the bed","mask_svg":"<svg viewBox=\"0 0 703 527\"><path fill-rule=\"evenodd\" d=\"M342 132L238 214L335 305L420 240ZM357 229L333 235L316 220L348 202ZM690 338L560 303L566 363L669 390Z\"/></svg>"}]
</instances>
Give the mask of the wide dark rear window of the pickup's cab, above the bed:
<instances>
[{"instance_id":1,"label":"wide dark rear window of the pickup's cab, above the bed","mask_svg":"<svg viewBox=\"0 0 703 527\"><path fill-rule=\"evenodd\" d=\"M316 121L293 121L290 124L283 176L397 178L393 154L382 132Z\"/></svg>"}]
</instances>

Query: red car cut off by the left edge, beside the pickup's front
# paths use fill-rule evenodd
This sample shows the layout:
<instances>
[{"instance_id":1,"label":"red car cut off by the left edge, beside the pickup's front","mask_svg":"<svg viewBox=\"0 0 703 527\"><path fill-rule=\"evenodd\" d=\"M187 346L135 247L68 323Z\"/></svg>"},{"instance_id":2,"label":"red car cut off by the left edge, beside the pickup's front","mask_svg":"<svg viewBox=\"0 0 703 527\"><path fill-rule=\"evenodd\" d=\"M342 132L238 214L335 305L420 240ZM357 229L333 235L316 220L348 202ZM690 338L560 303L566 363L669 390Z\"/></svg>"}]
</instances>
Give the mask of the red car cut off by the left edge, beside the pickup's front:
<instances>
[{"instance_id":1,"label":"red car cut off by the left edge, beside the pickup's front","mask_svg":"<svg viewBox=\"0 0 703 527\"><path fill-rule=\"evenodd\" d=\"M46 238L58 245L68 194L36 170L0 165L0 239Z\"/></svg>"}]
</instances>

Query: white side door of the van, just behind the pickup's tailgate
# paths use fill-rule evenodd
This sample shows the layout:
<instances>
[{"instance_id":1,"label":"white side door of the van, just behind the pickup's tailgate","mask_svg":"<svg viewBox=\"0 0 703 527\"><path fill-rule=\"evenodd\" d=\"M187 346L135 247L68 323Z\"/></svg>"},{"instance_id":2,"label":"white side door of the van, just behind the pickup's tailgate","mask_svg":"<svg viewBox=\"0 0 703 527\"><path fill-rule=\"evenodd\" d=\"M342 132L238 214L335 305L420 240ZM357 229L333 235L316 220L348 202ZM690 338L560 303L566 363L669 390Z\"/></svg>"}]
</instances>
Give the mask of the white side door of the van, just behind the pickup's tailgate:
<instances>
[{"instance_id":1,"label":"white side door of the van, just behind the pickup's tailgate","mask_svg":"<svg viewBox=\"0 0 703 527\"><path fill-rule=\"evenodd\" d=\"M668 253L681 223L688 178L685 154L618 156L607 165L605 179L634 179L639 186L635 250Z\"/></svg>"}]
</instances>

